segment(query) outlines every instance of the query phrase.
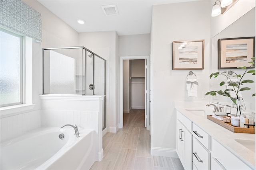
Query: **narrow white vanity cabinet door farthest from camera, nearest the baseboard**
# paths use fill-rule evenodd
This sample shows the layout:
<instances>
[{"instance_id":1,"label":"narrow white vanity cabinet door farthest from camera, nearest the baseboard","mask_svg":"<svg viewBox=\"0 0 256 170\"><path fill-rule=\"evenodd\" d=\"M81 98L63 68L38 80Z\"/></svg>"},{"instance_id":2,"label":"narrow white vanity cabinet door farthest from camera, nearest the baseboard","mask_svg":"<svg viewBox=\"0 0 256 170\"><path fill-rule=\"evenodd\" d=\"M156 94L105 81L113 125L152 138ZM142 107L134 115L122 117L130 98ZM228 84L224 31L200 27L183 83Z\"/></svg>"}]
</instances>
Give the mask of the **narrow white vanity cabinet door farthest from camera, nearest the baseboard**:
<instances>
[{"instance_id":1,"label":"narrow white vanity cabinet door farthest from camera, nearest the baseboard","mask_svg":"<svg viewBox=\"0 0 256 170\"><path fill-rule=\"evenodd\" d=\"M184 127L177 120L177 154L180 158L180 161L184 161Z\"/></svg>"}]
</instances>

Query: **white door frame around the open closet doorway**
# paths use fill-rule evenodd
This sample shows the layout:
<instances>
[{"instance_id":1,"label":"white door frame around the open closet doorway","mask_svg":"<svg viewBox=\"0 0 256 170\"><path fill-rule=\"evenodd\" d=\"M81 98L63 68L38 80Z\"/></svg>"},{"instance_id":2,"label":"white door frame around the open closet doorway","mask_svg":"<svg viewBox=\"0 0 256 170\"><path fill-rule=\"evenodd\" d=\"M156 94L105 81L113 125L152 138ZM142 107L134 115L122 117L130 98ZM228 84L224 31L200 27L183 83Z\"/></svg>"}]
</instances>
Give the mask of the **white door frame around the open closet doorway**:
<instances>
[{"instance_id":1,"label":"white door frame around the open closet doorway","mask_svg":"<svg viewBox=\"0 0 256 170\"><path fill-rule=\"evenodd\" d=\"M124 121L124 62L127 60L144 60L145 62L145 74L143 76L135 76L135 77L130 77L137 79L137 81L140 82L140 80L144 79L144 108L145 108L145 127L147 130L150 130L150 110L149 110L149 56L125 56L125 57L120 57L120 113L119 113L119 128L123 127L123 121ZM125 94L126 95L126 94Z\"/></svg>"}]
</instances>

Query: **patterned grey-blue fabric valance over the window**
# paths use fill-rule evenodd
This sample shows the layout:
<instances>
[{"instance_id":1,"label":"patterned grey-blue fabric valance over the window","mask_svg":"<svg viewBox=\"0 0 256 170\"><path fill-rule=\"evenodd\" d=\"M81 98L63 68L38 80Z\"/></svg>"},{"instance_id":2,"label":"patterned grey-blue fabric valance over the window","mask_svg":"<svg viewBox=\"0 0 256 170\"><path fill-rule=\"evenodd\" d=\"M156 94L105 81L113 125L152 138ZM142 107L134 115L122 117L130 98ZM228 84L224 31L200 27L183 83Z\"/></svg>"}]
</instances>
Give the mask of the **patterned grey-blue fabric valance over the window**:
<instances>
[{"instance_id":1,"label":"patterned grey-blue fabric valance over the window","mask_svg":"<svg viewBox=\"0 0 256 170\"><path fill-rule=\"evenodd\" d=\"M41 14L20 0L0 0L0 26L42 42Z\"/></svg>"}]
</instances>

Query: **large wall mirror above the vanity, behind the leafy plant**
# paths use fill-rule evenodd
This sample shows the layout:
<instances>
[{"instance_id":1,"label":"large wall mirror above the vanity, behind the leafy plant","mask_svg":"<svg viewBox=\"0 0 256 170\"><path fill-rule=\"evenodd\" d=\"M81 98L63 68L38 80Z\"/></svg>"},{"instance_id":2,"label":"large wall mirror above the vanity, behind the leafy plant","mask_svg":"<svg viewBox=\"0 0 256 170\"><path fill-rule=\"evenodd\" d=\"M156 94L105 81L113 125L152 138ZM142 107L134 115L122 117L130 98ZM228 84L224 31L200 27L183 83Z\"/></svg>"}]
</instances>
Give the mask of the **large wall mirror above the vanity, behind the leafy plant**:
<instances>
[{"instance_id":1,"label":"large wall mirror above the vanity, behind the leafy plant","mask_svg":"<svg viewBox=\"0 0 256 170\"><path fill-rule=\"evenodd\" d=\"M212 37L212 73L214 72L228 72L232 70L236 74L243 74L244 70L238 68L219 69L218 70L218 39L224 38L237 38L237 37L254 37L255 36L255 8L247 12L244 16L236 20L234 23L226 27L219 34ZM233 75L234 75L233 73ZM255 76L252 74L246 74L242 80L255 80ZM225 90L226 86L220 86L220 82L225 81L225 76L212 77L212 90ZM242 87L249 87L251 90L242 91L242 98L244 99L246 109L253 110L255 112L255 97L252 94L255 93L255 83L246 83ZM232 101L230 98L218 95L212 96L213 103L221 103L230 105Z\"/></svg>"}]
</instances>

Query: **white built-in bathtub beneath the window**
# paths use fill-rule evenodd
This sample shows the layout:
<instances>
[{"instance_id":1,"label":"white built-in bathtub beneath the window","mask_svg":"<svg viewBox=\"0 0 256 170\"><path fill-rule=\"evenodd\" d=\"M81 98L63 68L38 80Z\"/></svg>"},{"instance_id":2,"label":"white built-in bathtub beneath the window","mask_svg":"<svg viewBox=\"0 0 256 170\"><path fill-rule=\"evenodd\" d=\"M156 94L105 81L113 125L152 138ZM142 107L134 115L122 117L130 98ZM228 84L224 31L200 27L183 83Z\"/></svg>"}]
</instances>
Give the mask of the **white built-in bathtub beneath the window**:
<instances>
[{"instance_id":1,"label":"white built-in bathtub beneath the window","mask_svg":"<svg viewBox=\"0 0 256 170\"><path fill-rule=\"evenodd\" d=\"M26 135L1 143L1 170L75 170L90 169L96 160L92 129L72 127L39 128ZM63 133L63 140L59 134Z\"/></svg>"}]
</instances>

